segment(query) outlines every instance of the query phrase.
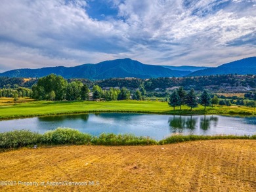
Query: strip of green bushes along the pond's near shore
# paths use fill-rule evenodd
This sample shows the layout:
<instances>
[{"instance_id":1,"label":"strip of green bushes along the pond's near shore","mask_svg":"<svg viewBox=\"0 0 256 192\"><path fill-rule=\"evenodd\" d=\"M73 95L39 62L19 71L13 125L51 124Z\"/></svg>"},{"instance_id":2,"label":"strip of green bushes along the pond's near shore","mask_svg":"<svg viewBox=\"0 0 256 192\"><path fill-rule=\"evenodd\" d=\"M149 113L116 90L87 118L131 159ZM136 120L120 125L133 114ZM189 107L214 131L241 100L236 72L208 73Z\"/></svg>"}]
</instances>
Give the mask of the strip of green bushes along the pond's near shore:
<instances>
[{"instance_id":1,"label":"strip of green bushes along the pond's near shore","mask_svg":"<svg viewBox=\"0 0 256 192\"><path fill-rule=\"evenodd\" d=\"M30 130L13 130L0 133L0 152L18 149L21 147L33 147L34 145L163 145L196 140L256 140L253 136L198 136L198 135L173 135L163 140L156 141L146 136L135 136L133 134L102 133L100 136L79 132L72 128L56 128L44 134Z\"/></svg>"}]
</instances>

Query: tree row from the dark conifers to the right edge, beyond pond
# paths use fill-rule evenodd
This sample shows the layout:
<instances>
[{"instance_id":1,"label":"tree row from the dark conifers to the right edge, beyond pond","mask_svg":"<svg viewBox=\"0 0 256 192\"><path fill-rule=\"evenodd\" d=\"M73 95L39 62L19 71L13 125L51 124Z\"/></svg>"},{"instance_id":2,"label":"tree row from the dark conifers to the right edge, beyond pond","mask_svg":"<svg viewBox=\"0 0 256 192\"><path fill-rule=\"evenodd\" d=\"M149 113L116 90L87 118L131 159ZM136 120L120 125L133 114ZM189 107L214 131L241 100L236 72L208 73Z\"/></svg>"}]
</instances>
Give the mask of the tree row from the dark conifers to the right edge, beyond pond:
<instances>
[{"instance_id":1,"label":"tree row from the dark conifers to the right edge, beyond pond","mask_svg":"<svg viewBox=\"0 0 256 192\"><path fill-rule=\"evenodd\" d=\"M186 92L182 86L178 89L175 89L173 93L169 96L169 106L172 106L173 109L179 106L181 109L182 105L186 105L192 108L198 107L198 104L204 106L204 109L207 106L213 107L213 105L220 105L220 106L231 106L232 104L240 105L240 106L248 106L248 107L255 107L256 106L256 91L249 92L249 94L245 94L245 96L249 96L250 100L239 99L237 100L219 100L218 96L211 95L209 90L203 90L202 94L196 95L193 88L190 91Z\"/></svg>"}]
</instances>

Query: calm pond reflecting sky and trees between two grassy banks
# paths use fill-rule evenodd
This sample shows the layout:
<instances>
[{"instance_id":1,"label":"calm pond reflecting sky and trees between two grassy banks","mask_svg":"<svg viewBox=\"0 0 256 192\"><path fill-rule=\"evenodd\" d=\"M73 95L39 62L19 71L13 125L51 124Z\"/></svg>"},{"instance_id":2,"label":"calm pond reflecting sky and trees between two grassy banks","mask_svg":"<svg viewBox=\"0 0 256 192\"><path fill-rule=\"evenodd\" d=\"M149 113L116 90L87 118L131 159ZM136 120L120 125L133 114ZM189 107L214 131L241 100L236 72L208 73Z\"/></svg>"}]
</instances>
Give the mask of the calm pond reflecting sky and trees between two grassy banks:
<instances>
[{"instance_id":1,"label":"calm pond reflecting sky and trees between two grassy banks","mask_svg":"<svg viewBox=\"0 0 256 192\"><path fill-rule=\"evenodd\" d=\"M153 115L139 113L99 113L56 115L0 121L0 132L29 129L45 132L57 127L75 128L95 136L102 132L131 133L161 140L170 134L256 134L256 117L221 115Z\"/></svg>"}]
</instances>

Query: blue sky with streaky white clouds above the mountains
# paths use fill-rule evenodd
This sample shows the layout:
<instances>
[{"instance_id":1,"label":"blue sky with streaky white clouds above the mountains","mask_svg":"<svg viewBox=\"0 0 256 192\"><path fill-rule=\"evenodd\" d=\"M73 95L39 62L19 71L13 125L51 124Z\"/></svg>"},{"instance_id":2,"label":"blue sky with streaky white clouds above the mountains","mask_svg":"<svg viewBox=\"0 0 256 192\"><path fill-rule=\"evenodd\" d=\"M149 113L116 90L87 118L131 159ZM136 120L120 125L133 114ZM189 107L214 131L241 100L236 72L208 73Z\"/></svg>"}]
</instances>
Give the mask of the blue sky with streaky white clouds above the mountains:
<instances>
[{"instance_id":1,"label":"blue sky with streaky white clouds above the mountains","mask_svg":"<svg viewBox=\"0 0 256 192\"><path fill-rule=\"evenodd\" d=\"M116 58L219 66L256 56L256 0L1 0L0 71Z\"/></svg>"}]
</instances>

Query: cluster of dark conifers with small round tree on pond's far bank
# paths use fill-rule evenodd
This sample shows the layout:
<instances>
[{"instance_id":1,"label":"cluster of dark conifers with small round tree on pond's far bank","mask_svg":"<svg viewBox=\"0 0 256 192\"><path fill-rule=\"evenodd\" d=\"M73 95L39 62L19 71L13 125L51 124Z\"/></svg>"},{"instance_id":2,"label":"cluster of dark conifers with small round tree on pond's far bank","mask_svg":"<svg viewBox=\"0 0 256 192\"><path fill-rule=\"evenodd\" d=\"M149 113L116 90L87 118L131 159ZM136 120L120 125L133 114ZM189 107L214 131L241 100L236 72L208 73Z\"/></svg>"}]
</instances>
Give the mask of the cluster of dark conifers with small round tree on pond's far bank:
<instances>
[{"instance_id":1,"label":"cluster of dark conifers with small round tree on pond's far bank","mask_svg":"<svg viewBox=\"0 0 256 192\"><path fill-rule=\"evenodd\" d=\"M205 109L206 106L211 105L213 107L213 105L219 104L219 98L217 98L217 96L211 98L211 94L209 94L208 90L203 90L200 98L198 98L193 88L191 88L189 92L186 92L184 88L180 86L178 90L174 90L171 94L168 104L172 106L173 109L177 106L180 106L181 109L182 105L186 105L190 107L191 110L194 107L198 107L198 104L202 104Z\"/></svg>"}]
</instances>

